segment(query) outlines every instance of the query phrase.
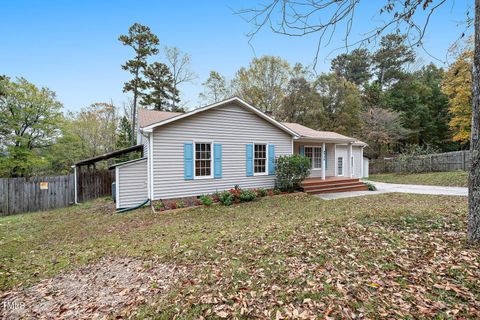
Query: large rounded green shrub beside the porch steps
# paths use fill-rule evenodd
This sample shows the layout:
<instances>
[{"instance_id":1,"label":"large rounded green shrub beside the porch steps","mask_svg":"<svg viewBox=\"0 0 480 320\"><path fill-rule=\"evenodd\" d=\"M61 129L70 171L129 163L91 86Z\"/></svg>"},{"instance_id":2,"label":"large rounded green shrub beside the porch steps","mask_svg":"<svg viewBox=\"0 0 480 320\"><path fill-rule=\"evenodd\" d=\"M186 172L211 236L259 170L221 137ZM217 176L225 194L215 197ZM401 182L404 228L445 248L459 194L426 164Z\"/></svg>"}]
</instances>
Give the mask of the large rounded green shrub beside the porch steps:
<instances>
[{"instance_id":1,"label":"large rounded green shrub beside the porch steps","mask_svg":"<svg viewBox=\"0 0 480 320\"><path fill-rule=\"evenodd\" d=\"M282 191L293 192L310 174L310 159L293 154L277 158L276 184Z\"/></svg>"}]
</instances>

